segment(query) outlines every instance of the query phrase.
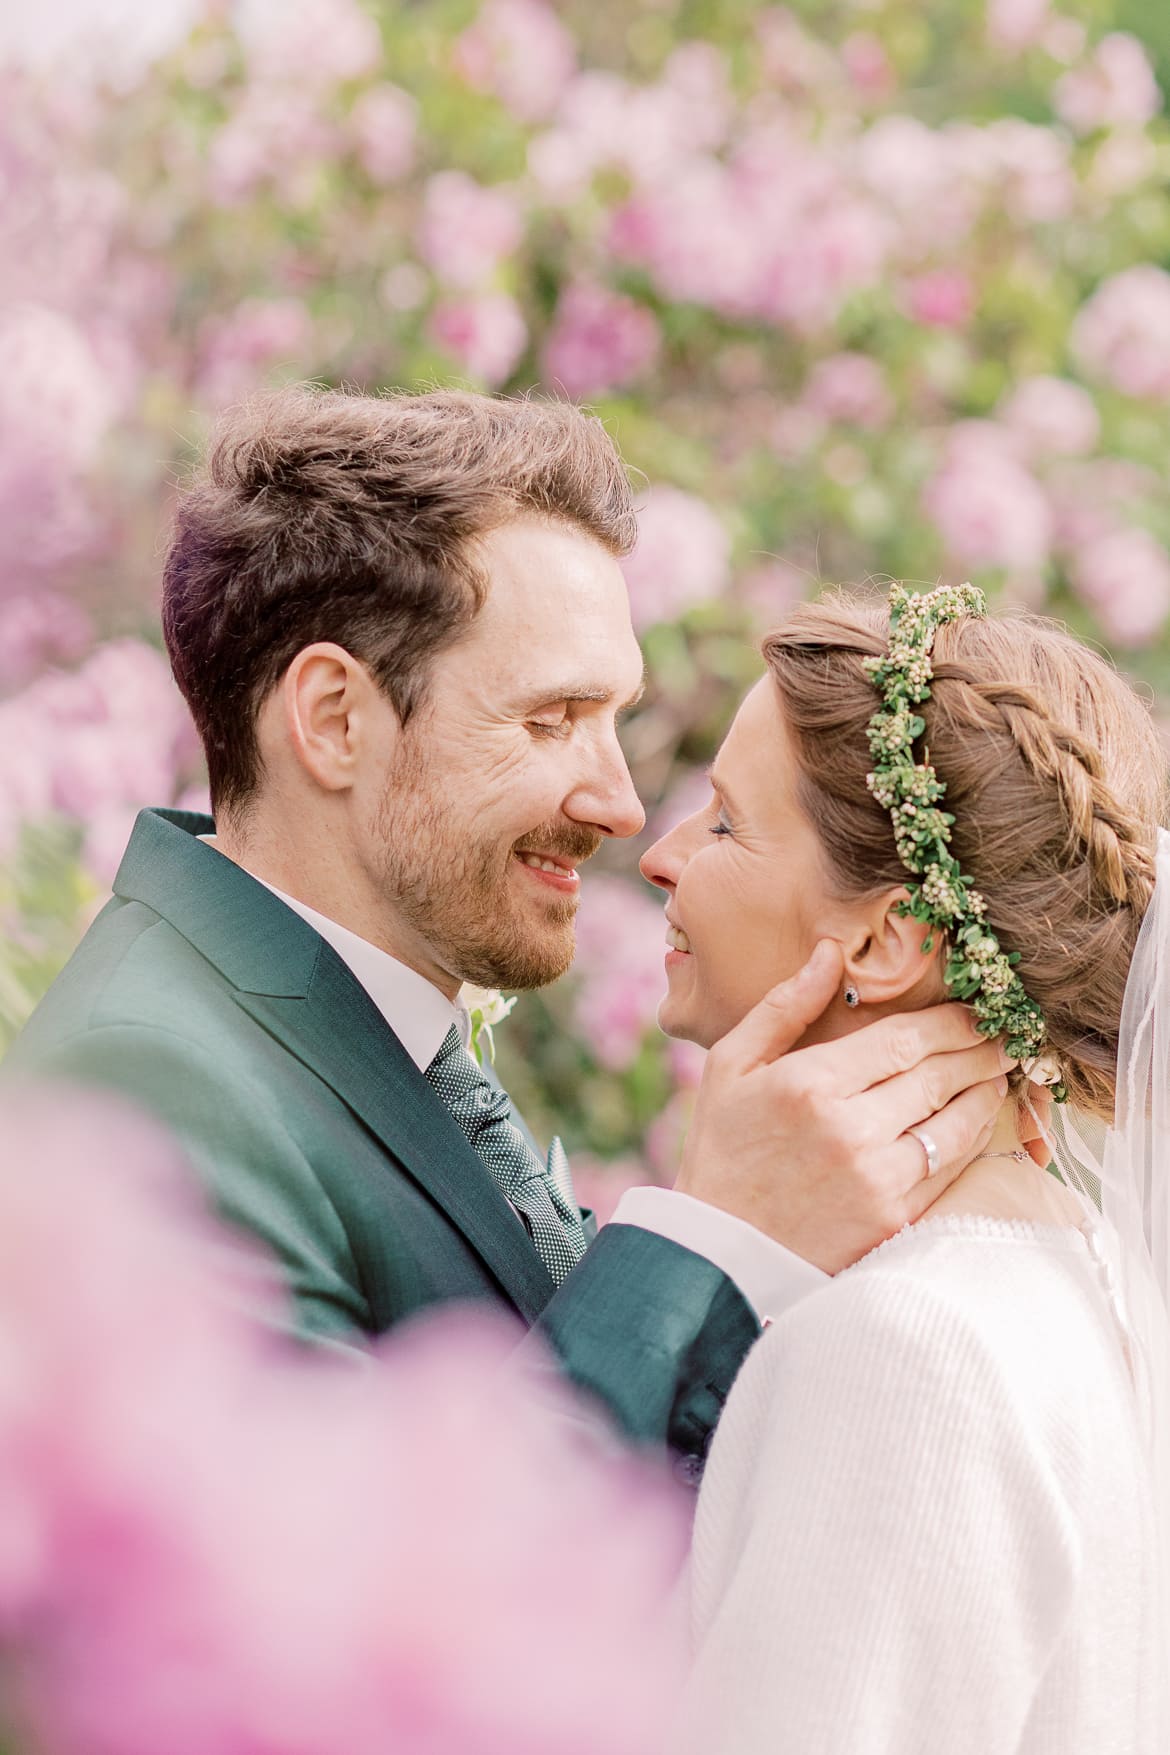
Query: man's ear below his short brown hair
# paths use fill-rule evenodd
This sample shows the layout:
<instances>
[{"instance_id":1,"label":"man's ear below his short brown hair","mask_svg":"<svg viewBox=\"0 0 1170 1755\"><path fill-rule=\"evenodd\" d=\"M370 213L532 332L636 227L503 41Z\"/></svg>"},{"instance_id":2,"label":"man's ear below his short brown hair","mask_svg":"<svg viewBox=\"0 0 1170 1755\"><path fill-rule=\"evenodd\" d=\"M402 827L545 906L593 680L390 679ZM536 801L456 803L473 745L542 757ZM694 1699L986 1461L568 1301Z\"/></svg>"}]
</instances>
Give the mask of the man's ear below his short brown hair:
<instances>
[{"instance_id":1,"label":"man's ear below his short brown hair","mask_svg":"<svg viewBox=\"0 0 1170 1755\"><path fill-rule=\"evenodd\" d=\"M358 779L375 720L384 748L379 702L386 706L353 653L332 641L316 641L296 653L268 697L267 730L323 792L347 792Z\"/></svg>"}]
</instances>

